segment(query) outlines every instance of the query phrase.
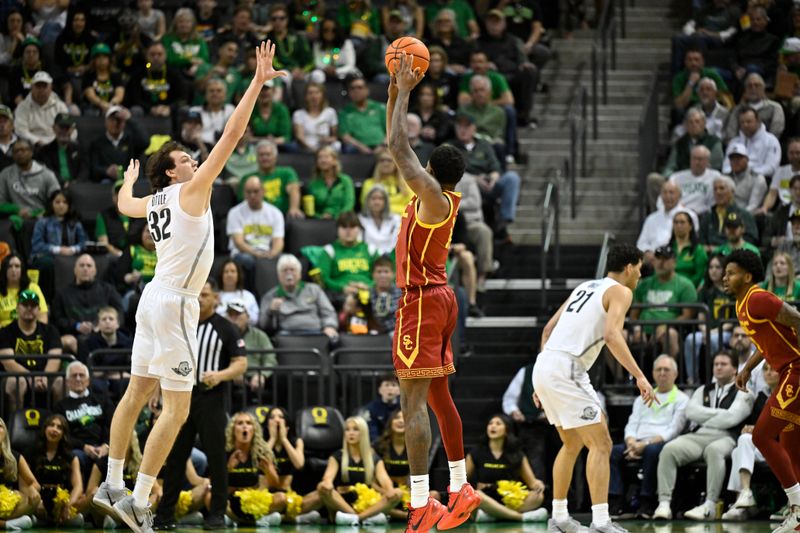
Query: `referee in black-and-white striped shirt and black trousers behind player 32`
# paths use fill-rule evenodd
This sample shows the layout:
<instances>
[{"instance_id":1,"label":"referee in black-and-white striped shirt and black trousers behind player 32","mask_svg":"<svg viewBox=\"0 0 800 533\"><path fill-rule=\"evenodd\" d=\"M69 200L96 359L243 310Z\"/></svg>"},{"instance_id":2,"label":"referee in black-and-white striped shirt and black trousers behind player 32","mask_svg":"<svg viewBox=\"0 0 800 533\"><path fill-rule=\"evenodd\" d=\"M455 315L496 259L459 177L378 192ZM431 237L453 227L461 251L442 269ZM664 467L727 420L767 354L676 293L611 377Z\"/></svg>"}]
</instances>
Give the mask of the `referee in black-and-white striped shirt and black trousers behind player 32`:
<instances>
[{"instance_id":1,"label":"referee in black-and-white striped shirt and black trousers behind player 32","mask_svg":"<svg viewBox=\"0 0 800 533\"><path fill-rule=\"evenodd\" d=\"M208 456L211 508L205 529L224 529L228 504L227 456L225 454L225 386L247 370L244 341L236 327L215 310L219 289L209 279L200 291L200 323L197 326L197 375L189 417L183 425L163 470L164 495L158 505L154 529L175 529L175 505L184 484L186 461L200 435Z\"/></svg>"}]
</instances>

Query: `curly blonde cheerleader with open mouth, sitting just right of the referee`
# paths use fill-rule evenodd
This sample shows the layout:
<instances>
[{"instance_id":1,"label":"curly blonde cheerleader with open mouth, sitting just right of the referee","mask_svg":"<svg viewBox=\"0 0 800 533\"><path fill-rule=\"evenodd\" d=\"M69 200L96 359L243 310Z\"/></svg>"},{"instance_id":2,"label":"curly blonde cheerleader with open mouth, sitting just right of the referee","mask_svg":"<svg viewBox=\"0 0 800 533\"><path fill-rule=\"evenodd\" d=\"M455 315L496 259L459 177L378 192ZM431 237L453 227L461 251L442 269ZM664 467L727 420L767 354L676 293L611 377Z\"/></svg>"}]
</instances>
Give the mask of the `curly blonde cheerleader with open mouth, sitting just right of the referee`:
<instances>
[{"instance_id":1,"label":"curly blonde cheerleader with open mouth, sitting just right of the referee","mask_svg":"<svg viewBox=\"0 0 800 533\"><path fill-rule=\"evenodd\" d=\"M278 526L286 495L267 487L280 486L275 456L261 425L250 413L236 413L225 428L228 452L228 516L239 525ZM210 497L210 495L209 495Z\"/></svg>"}]
</instances>

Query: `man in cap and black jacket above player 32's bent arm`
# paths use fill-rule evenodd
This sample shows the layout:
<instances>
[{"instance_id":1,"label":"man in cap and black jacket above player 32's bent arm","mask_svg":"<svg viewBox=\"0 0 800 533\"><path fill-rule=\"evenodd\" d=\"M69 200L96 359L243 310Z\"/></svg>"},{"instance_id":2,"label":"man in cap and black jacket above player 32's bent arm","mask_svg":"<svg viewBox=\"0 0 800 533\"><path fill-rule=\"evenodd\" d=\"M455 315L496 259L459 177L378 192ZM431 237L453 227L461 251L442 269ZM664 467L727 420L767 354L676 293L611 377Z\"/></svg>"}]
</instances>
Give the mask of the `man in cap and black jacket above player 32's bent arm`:
<instances>
[{"instance_id":1,"label":"man in cap and black jacket above player 32's bent arm","mask_svg":"<svg viewBox=\"0 0 800 533\"><path fill-rule=\"evenodd\" d=\"M89 145L91 179L114 183L131 159L138 159L147 148L147 137L138 121L129 122L131 112L124 107L109 107L105 117L105 132Z\"/></svg>"}]
</instances>

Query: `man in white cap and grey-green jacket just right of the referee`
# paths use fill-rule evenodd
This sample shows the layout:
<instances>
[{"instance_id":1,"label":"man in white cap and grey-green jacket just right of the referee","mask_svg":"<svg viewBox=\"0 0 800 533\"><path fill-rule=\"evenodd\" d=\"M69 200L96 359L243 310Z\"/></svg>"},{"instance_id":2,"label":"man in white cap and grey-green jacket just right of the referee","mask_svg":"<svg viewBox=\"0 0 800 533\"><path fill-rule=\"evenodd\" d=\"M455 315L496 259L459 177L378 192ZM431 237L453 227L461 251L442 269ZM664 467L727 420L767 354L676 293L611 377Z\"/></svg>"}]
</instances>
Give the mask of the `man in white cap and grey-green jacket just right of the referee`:
<instances>
[{"instance_id":1,"label":"man in white cap and grey-green jacket just right of the referee","mask_svg":"<svg viewBox=\"0 0 800 533\"><path fill-rule=\"evenodd\" d=\"M269 340L266 333L250 325L250 313L243 300L228 302L225 317L239 329L239 335L244 340L244 347L247 350L247 373L244 375L243 381L247 383L247 388L251 393L259 393L272 375L272 372L264 372L261 369L278 365L278 357L267 351L272 350L272 341ZM257 322L257 311L255 318Z\"/></svg>"}]
</instances>

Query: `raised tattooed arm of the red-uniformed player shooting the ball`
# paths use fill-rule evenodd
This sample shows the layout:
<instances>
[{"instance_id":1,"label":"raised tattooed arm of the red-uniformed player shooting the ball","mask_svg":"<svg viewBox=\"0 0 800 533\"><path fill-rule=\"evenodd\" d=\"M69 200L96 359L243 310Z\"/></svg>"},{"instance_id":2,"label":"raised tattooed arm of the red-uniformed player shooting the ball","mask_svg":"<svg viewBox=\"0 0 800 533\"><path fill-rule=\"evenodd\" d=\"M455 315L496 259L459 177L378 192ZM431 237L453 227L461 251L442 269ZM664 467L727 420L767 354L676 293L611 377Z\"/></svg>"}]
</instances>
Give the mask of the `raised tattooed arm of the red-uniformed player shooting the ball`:
<instances>
[{"instance_id":1,"label":"raised tattooed arm of the red-uniformed player shooting the ball","mask_svg":"<svg viewBox=\"0 0 800 533\"><path fill-rule=\"evenodd\" d=\"M397 100L391 103L391 120L387 120L389 152L400 175L419 198L419 218L427 224L438 224L447 217L450 202L442 194L439 182L422 168L408 142L408 100L411 90L423 78L418 68L411 69L412 63L413 56L403 53L389 82L397 84ZM391 96L391 89L389 94Z\"/></svg>"}]
</instances>

